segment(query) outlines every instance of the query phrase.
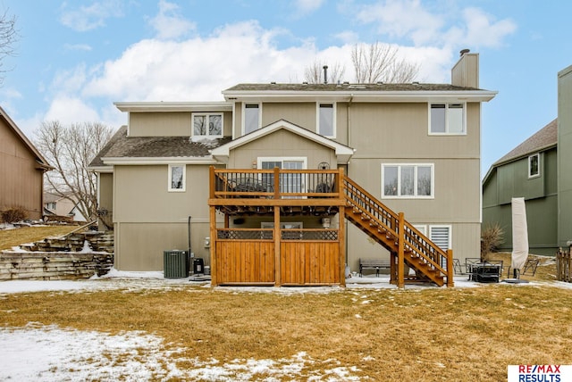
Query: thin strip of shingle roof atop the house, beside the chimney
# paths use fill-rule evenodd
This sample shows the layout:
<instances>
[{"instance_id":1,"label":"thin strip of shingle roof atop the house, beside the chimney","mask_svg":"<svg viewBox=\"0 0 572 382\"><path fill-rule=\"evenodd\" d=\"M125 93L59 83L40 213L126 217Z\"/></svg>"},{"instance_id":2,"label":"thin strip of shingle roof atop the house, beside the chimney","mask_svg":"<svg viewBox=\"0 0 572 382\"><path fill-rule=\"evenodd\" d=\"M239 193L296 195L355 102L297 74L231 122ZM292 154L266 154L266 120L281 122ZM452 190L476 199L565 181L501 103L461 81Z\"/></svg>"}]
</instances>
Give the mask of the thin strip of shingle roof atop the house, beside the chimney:
<instances>
[{"instance_id":1,"label":"thin strip of shingle roof atop the house, beside the chimney","mask_svg":"<svg viewBox=\"0 0 572 382\"><path fill-rule=\"evenodd\" d=\"M480 90L475 87L456 87L449 84L238 84L229 87L227 91L315 91L315 92L333 92L333 91L462 91L462 90Z\"/></svg>"}]
</instances>

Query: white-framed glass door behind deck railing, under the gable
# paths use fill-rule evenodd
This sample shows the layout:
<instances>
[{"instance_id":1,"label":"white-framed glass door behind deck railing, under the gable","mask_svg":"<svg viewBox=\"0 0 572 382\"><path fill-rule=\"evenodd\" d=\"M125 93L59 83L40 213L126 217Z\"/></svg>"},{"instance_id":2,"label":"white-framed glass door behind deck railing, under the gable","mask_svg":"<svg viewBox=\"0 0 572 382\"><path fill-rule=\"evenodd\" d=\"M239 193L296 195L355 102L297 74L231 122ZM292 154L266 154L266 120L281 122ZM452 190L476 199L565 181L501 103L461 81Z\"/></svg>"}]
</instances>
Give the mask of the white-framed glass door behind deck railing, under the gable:
<instances>
[{"instance_id":1,"label":"white-framed glass door behind deck railing, under the gable","mask_svg":"<svg viewBox=\"0 0 572 382\"><path fill-rule=\"evenodd\" d=\"M258 158L258 169L273 169L278 167L283 170L304 170L307 168L306 158ZM301 193L305 192L305 178L302 174L282 174L280 179L280 192ZM265 185L273 185L273 174L262 174ZM293 196L299 197L299 196Z\"/></svg>"}]
</instances>

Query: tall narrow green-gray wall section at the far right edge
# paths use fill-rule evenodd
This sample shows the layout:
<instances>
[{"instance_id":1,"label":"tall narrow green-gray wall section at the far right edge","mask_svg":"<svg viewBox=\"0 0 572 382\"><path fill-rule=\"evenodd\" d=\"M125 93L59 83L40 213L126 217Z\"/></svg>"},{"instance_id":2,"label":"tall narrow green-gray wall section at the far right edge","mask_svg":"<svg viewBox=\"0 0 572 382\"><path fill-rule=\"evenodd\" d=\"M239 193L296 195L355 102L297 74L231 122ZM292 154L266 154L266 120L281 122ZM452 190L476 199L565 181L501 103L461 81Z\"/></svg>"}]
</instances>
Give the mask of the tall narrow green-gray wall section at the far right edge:
<instances>
[{"instance_id":1,"label":"tall narrow green-gray wall section at the far right edge","mask_svg":"<svg viewBox=\"0 0 572 382\"><path fill-rule=\"evenodd\" d=\"M559 225L558 245L572 240L572 66L558 74Z\"/></svg>"}]
</instances>

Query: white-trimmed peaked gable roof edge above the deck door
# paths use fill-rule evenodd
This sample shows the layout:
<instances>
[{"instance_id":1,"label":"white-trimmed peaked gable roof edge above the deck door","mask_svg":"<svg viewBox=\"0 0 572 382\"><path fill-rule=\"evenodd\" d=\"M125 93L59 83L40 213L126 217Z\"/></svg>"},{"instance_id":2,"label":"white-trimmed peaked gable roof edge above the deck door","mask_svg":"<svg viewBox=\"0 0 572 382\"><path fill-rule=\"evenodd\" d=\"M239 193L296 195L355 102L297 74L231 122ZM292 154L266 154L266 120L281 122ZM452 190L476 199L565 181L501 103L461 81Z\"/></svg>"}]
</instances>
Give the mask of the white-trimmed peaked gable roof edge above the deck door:
<instances>
[{"instance_id":1,"label":"white-trimmed peaked gable roof edge above the deck door","mask_svg":"<svg viewBox=\"0 0 572 382\"><path fill-rule=\"evenodd\" d=\"M215 158L221 159L223 162L226 162L225 159L228 159L231 150L239 148L242 145L246 145L249 142L255 141L261 137L265 137L280 129L288 130L300 137L304 137L306 139L314 141L315 143L331 148L337 155L339 163L347 163L351 155L354 154L354 149L352 149L351 147L347 145L341 145L333 141L332 139L323 137L308 129L301 128L298 125L295 125L287 120L277 120L271 123L270 125L265 126L262 129L257 129L240 138L234 139L227 144L220 145L212 149L210 153Z\"/></svg>"}]
</instances>

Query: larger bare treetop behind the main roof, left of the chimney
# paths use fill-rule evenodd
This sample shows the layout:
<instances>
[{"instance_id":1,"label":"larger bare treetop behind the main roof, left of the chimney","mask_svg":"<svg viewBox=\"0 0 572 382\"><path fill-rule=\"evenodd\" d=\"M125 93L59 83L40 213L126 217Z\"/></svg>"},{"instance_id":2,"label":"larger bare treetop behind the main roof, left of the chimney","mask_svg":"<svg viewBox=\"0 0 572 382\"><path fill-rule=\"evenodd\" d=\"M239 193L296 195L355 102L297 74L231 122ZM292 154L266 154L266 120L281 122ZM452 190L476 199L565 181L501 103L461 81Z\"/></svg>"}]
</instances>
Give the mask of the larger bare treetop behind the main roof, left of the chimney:
<instances>
[{"instance_id":1,"label":"larger bare treetop behind the main roof, left of the chimney","mask_svg":"<svg viewBox=\"0 0 572 382\"><path fill-rule=\"evenodd\" d=\"M356 44L351 50L356 81L406 83L416 78L419 65L400 59L399 48L389 44Z\"/></svg>"}]
</instances>

